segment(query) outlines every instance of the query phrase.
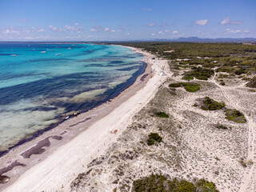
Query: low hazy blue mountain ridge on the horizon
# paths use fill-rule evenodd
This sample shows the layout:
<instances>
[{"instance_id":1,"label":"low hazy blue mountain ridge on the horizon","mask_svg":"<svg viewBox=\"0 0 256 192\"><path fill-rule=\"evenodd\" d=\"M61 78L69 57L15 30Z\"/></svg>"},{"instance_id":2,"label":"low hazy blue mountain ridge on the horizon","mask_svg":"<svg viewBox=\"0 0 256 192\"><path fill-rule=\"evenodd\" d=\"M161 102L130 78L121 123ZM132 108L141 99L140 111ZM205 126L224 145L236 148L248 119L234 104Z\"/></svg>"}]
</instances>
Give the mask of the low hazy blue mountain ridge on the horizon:
<instances>
[{"instance_id":1,"label":"low hazy blue mountain ridge on the horizon","mask_svg":"<svg viewBox=\"0 0 256 192\"><path fill-rule=\"evenodd\" d=\"M177 39L155 39L157 42L256 42L256 38L177 38Z\"/></svg>"}]
</instances>

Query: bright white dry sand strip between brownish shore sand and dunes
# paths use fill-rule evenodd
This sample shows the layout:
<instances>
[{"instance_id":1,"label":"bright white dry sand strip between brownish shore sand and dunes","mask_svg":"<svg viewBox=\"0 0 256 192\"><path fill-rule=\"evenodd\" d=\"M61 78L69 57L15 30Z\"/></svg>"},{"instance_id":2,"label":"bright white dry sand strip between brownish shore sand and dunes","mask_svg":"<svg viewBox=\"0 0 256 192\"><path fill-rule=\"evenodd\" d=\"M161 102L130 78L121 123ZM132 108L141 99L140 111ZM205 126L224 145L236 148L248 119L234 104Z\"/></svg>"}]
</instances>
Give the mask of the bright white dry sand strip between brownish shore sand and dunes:
<instances>
[{"instance_id":1,"label":"bright white dry sand strip between brownish shore sand and dunes","mask_svg":"<svg viewBox=\"0 0 256 192\"><path fill-rule=\"evenodd\" d=\"M152 64L155 74L146 86L82 134L59 147L44 161L31 167L3 191L69 191L70 182L86 170L86 164L102 154L116 140L117 136L110 134L110 131L117 129L118 134L121 134L132 122L133 115L146 106L154 97L158 86L166 80L166 77L158 75L161 69L157 61Z\"/></svg>"}]
</instances>

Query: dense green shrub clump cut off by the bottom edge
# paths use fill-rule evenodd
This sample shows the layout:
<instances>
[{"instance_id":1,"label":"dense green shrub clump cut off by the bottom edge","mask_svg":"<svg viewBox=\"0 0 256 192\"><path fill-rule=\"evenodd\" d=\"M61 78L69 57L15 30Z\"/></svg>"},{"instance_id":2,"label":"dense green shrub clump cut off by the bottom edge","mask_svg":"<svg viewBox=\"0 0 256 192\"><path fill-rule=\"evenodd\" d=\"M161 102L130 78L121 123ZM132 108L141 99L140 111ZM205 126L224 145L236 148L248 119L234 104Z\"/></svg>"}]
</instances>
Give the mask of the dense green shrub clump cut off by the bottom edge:
<instances>
[{"instance_id":1,"label":"dense green shrub clump cut off by the bottom edge","mask_svg":"<svg viewBox=\"0 0 256 192\"><path fill-rule=\"evenodd\" d=\"M186 180L167 180L163 175L151 174L147 178L134 181L132 188L134 192L195 192L195 191L211 191L218 192L213 182L200 179L197 182L187 182Z\"/></svg>"}]
</instances>

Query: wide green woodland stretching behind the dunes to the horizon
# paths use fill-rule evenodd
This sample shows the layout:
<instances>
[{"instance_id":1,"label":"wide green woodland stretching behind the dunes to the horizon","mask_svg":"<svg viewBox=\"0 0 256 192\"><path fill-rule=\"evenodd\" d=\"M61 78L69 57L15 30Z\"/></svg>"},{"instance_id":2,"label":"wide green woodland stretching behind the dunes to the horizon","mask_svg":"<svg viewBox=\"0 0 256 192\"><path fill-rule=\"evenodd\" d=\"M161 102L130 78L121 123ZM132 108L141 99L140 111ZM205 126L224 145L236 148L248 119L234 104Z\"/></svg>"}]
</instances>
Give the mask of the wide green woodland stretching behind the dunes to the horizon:
<instances>
[{"instance_id":1,"label":"wide green woodland stretching behind the dunes to the horizon","mask_svg":"<svg viewBox=\"0 0 256 192\"><path fill-rule=\"evenodd\" d=\"M256 46L242 43L198 43L198 42L118 42L118 45L142 48L160 58L176 60L177 69L192 69L186 79L197 78L194 67L202 66L207 71L199 74L198 79L206 80L211 69L216 72L241 75L255 71ZM173 50L173 51L169 51ZM169 51L169 52L168 52ZM177 59L184 59L186 61ZM209 70L209 71L208 71ZM206 75L205 75L206 74ZM207 77L208 76L208 77Z\"/></svg>"}]
</instances>

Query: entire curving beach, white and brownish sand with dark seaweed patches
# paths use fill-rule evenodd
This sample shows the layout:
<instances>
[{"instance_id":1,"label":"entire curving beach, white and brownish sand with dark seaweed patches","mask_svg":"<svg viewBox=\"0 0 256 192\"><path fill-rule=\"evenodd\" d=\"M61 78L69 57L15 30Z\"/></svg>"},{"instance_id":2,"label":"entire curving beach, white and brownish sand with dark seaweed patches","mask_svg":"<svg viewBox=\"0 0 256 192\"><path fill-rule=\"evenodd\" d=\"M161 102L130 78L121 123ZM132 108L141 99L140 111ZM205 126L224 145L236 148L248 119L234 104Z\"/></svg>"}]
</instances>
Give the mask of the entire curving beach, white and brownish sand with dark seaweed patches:
<instances>
[{"instance_id":1,"label":"entire curving beach, white and brownish sand with dark seaweed patches","mask_svg":"<svg viewBox=\"0 0 256 192\"><path fill-rule=\"evenodd\" d=\"M145 57L153 57L129 48ZM9 167L9 171L2 175L10 177L9 182L0 184L0 190L52 191L63 188L66 191L83 167L114 142L116 135L110 134L110 131L117 129L118 134L121 134L134 114L146 105L166 79L158 75L161 71L158 65L145 62L147 66L144 73L111 102L62 122L53 130L0 158L1 165ZM3 170L2 167L0 170ZM56 180L49 181L53 178Z\"/></svg>"}]
</instances>

